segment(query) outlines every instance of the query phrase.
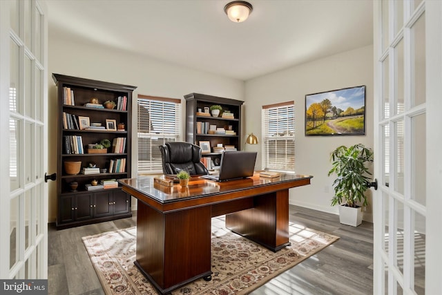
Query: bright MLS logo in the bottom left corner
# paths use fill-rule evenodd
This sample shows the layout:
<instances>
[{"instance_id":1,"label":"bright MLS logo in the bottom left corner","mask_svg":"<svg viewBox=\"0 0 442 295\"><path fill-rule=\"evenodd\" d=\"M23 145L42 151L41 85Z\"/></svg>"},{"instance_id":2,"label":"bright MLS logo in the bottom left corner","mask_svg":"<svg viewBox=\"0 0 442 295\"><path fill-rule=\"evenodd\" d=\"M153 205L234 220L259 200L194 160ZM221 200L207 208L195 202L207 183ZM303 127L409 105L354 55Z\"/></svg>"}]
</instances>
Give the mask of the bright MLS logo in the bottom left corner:
<instances>
[{"instance_id":1,"label":"bright MLS logo in the bottom left corner","mask_svg":"<svg viewBox=\"0 0 442 295\"><path fill-rule=\"evenodd\" d=\"M47 295L48 280L0 280L0 294Z\"/></svg>"}]
</instances>

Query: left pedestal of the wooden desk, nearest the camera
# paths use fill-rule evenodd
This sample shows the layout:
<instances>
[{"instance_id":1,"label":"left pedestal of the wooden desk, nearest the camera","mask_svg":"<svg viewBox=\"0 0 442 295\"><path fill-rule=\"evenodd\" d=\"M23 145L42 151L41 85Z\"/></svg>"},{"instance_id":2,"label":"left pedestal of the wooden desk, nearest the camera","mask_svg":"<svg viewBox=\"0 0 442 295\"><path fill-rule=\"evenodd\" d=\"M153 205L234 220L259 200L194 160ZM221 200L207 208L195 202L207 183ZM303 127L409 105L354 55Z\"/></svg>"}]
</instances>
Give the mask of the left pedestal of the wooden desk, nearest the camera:
<instances>
[{"instance_id":1,"label":"left pedestal of the wooden desk, nearest the camera","mask_svg":"<svg viewBox=\"0 0 442 295\"><path fill-rule=\"evenodd\" d=\"M162 294L211 274L211 210L137 212L137 267Z\"/></svg>"}]
</instances>

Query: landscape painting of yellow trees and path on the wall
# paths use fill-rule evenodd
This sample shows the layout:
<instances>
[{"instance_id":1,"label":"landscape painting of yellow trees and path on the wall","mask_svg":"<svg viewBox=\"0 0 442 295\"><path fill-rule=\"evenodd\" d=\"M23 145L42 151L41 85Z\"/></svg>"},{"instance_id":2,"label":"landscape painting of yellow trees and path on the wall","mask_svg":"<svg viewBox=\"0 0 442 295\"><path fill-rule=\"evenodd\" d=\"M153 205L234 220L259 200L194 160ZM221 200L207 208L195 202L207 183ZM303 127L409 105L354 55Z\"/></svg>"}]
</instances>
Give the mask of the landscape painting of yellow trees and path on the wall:
<instances>
[{"instance_id":1,"label":"landscape painting of yellow trees and path on the wall","mask_svg":"<svg viewBox=\"0 0 442 295\"><path fill-rule=\"evenodd\" d=\"M305 95L305 135L365 135L365 86Z\"/></svg>"}]
</instances>

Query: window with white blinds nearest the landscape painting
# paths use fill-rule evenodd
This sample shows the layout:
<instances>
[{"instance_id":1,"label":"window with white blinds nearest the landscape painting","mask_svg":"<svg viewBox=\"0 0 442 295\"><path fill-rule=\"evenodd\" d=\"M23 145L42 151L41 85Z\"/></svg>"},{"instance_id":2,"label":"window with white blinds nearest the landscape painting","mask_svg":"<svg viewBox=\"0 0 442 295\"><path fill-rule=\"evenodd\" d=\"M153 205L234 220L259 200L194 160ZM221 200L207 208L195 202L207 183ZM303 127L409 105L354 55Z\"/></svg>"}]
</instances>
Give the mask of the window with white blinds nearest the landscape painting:
<instances>
[{"instance_id":1,"label":"window with white blinds nearest the landscape painting","mask_svg":"<svg viewBox=\"0 0 442 295\"><path fill-rule=\"evenodd\" d=\"M283 102L262 106L262 167L276 171L295 171L295 106Z\"/></svg>"}]
</instances>

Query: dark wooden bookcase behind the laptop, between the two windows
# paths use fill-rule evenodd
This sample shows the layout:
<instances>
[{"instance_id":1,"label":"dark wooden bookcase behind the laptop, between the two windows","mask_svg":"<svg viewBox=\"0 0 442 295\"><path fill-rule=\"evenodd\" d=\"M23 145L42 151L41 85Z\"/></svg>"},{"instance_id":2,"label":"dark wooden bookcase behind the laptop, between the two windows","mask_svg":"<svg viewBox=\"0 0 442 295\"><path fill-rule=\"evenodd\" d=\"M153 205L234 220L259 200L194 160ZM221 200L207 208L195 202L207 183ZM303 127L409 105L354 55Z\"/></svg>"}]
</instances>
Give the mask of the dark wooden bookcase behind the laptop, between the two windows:
<instances>
[{"instance_id":1,"label":"dark wooden bookcase behind the laptop, between the two windows","mask_svg":"<svg viewBox=\"0 0 442 295\"><path fill-rule=\"evenodd\" d=\"M184 99L186 99L186 142L197 145L200 145L201 142L209 142L211 151L203 153L203 156L209 156L212 159L218 158L218 160L221 153L213 149L218 144L223 147L233 146L236 150L241 150L241 108L244 102L200 93L184 95ZM218 117L204 113L204 108L210 108L216 104L222 106ZM222 113L230 113L231 115L227 117ZM235 134L211 133L209 131L211 125L216 129L231 129Z\"/></svg>"}]
</instances>

